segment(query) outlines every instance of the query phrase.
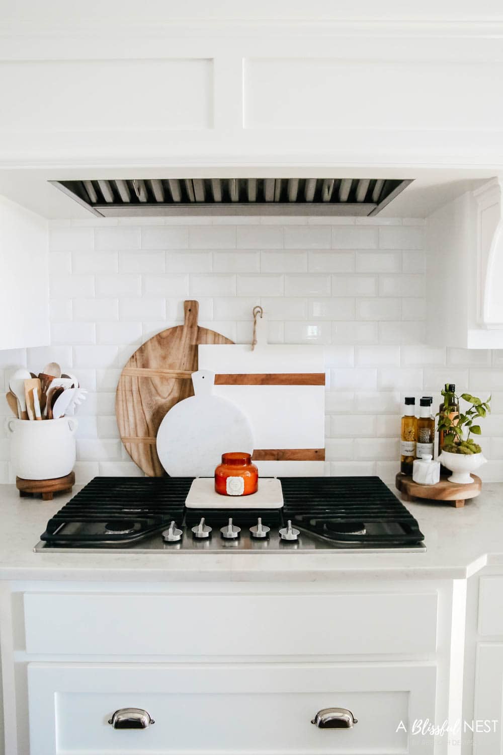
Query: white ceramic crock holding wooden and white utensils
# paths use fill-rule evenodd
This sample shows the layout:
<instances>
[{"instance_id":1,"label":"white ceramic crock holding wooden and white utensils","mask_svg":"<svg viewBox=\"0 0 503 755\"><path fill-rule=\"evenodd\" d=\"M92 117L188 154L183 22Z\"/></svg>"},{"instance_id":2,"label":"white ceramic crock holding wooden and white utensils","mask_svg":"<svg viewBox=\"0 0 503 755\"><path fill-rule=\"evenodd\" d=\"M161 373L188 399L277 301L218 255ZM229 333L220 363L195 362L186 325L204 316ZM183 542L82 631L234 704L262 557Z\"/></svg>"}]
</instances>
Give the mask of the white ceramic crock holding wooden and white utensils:
<instances>
[{"instance_id":1,"label":"white ceramic crock holding wooden and white utensils","mask_svg":"<svg viewBox=\"0 0 503 755\"><path fill-rule=\"evenodd\" d=\"M30 422L10 419L11 462L22 479L54 479L69 474L75 464L74 417Z\"/></svg>"}]
</instances>

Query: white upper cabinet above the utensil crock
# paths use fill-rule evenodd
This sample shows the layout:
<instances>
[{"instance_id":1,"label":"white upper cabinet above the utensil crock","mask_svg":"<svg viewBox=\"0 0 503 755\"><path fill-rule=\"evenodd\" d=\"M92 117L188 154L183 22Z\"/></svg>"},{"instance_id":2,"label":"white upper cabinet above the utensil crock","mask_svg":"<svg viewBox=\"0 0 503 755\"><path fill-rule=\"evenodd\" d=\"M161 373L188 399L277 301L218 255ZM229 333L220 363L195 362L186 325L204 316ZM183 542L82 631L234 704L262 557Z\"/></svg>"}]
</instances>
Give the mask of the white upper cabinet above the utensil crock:
<instances>
[{"instance_id":1,"label":"white upper cabinet above the utensil crock","mask_svg":"<svg viewBox=\"0 0 503 755\"><path fill-rule=\"evenodd\" d=\"M0 349L46 346L48 221L0 196Z\"/></svg>"}]
</instances>

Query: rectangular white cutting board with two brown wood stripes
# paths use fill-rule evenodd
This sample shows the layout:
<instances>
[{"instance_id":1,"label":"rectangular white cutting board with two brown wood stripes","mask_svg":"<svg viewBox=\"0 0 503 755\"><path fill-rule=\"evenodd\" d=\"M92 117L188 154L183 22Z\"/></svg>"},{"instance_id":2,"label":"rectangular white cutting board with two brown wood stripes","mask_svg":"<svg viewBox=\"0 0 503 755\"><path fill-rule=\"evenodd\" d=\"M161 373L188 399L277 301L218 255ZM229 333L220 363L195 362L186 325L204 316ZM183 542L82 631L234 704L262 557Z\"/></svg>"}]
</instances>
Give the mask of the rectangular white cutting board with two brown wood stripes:
<instances>
[{"instance_id":1,"label":"rectangular white cutting board with two brown wood stripes","mask_svg":"<svg viewBox=\"0 0 503 755\"><path fill-rule=\"evenodd\" d=\"M216 373L216 396L234 402L247 414L253 432L253 461L260 474L322 476L323 349L268 344L266 331L262 317L257 320L254 350L248 344L200 345L199 368Z\"/></svg>"}]
</instances>

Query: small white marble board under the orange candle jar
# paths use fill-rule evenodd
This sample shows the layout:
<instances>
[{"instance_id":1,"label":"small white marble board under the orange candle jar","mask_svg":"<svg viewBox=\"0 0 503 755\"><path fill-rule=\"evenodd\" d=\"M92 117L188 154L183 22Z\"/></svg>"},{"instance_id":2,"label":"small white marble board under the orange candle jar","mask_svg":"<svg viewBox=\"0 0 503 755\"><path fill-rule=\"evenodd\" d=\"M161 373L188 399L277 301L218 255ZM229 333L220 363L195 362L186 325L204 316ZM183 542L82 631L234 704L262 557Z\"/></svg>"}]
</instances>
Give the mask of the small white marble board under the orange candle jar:
<instances>
[{"instance_id":1,"label":"small white marble board under the orange candle jar","mask_svg":"<svg viewBox=\"0 0 503 755\"><path fill-rule=\"evenodd\" d=\"M252 495L220 495L214 477L196 477L186 498L188 509L281 509L283 491L275 477L259 477L259 489Z\"/></svg>"}]
</instances>

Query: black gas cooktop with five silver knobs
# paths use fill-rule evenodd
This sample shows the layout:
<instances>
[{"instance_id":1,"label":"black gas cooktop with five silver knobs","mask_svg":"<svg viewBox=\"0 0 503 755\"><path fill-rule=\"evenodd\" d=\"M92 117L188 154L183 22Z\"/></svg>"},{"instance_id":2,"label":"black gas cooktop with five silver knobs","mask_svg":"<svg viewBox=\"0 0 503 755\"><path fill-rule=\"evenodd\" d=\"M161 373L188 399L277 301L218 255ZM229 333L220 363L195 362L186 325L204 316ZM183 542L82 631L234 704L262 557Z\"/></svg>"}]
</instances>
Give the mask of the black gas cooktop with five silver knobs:
<instances>
[{"instance_id":1,"label":"black gas cooktop with five silver knobs","mask_svg":"<svg viewBox=\"0 0 503 755\"><path fill-rule=\"evenodd\" d=\"M379 477L281 477L284 506L262 511L187 509L192 479L95 477L49 519L35 550L425 550L418 522Z\"/></svg>"}]
</instances>

